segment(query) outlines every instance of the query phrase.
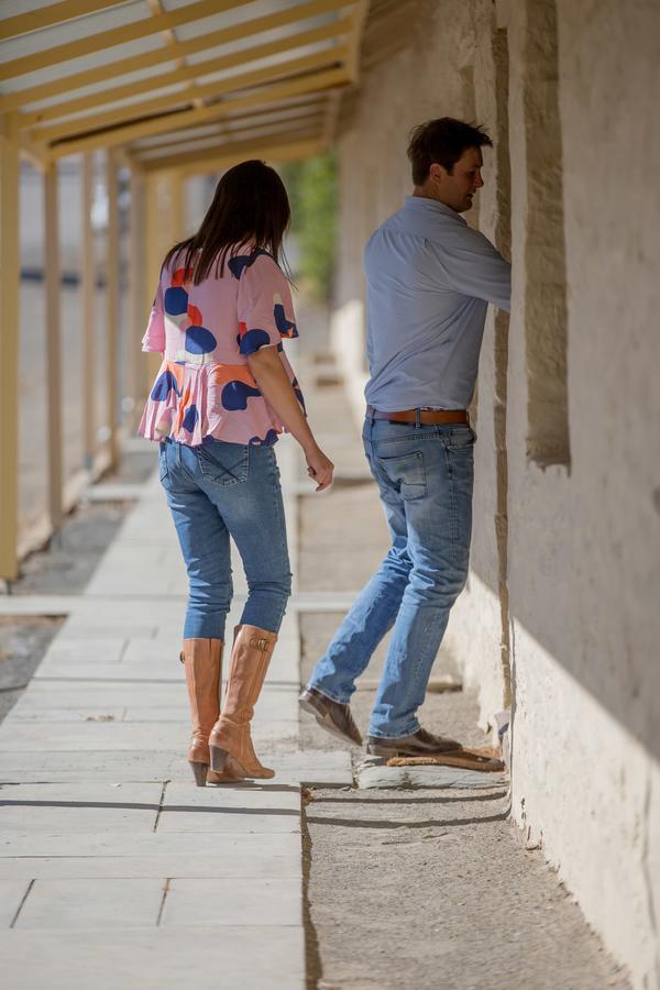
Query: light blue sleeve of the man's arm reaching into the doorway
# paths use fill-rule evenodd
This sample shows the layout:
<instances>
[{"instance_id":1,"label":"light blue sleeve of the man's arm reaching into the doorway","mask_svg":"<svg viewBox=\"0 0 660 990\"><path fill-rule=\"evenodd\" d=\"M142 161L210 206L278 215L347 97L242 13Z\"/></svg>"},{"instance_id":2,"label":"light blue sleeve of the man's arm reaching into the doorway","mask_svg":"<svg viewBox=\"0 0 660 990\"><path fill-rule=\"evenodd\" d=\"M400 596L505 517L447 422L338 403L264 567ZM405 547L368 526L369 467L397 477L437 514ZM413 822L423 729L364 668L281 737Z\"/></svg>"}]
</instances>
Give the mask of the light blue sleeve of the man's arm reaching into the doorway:
<instances>
[{"instance_id":1,"label":"light blue sleeve of the man's arm reaching into the doorway","mask_svg":"<svg viewBox=\"0 0 660 990\"><path fill-rule=\"evenodd\" d=\"M450 285L463 296L485 299L510 312L512 266L479 230L465 227L461 233L460 242L442 251Z\"/></svg>"}]
</instances>

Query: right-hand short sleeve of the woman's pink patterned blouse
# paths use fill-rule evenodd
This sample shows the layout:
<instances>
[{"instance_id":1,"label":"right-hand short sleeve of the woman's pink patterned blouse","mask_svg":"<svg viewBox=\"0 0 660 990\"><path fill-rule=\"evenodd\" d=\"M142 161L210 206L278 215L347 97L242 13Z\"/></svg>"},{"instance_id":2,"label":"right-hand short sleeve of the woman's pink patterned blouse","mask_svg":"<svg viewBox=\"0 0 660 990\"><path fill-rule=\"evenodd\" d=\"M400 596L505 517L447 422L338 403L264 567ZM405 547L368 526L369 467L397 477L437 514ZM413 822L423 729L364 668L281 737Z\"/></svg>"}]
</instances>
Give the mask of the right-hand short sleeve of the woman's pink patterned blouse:
<instances>
[{"instance_id":1,"label":"right-hand short sleeve of the woman's pink patterned blouse","mask_svg":"<svg viewBox=\"0 0 660 990\"><path fill-rule=\"evenodd\" d=\"M241 272L238 316L240 351L245 356L298 337L288 280L270 255L260 254Z\"/></svg>"}]
</instances>

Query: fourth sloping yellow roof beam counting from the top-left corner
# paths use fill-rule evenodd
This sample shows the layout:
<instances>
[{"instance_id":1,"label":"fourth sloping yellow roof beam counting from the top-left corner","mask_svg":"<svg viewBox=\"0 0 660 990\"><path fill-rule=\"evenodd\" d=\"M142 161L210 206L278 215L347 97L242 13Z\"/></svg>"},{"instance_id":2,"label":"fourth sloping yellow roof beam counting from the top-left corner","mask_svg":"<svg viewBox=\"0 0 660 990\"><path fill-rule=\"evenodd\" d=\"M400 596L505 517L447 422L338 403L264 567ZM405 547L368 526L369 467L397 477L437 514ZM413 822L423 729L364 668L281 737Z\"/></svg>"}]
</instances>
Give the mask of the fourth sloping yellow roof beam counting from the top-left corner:
<instances>
[{"instance_id":1,"label":"fourth sloping yellow roof beam counting from the top-left corner","mask_svg":"<svg viewBox=\"0 0 660 990\"><path fill-rule=\"evenodd\" d=\"M271 55L277 55L282 52L301 47L302 45L315 44L320 41L328 41L331 37L342 37L348 34L353 26L351 18L342 18L333 21L331 24L323 24L321 28L315 28L311 31L301 31L295 35L277 38L263 45L255 45L251 48L242 48L240 52L230 52L220 58L209 58L206 62L196 62L194 65L185 65L169 73L161 73L157 76L151 76L148 79L141 79L138 82L127 82L123 86L112 86L103 89L102 92L92 92L75 100L57 103L54 107L45 107L43 110L32 110L29 113L21 113L21 128L31 128L34 124L45 123L50 120L59 120L72 113L79 113L82 110L94 108L98 110L102 103L113 103L119 100L130 99L131 97L147 94L153 89L161 89L165 86L174 86L177 82L185 82L190 79L199 79L202 76L212 75L215 73L226 72L235 66L244 66L250 62L256 62L258 58L266 58ZM230 80L231 81L231 80ZM183 98L184 94L182 94ZM193 96L199 96L198 90L188 94L188 99ZM178 94L176 95L178 99ZM170 97L172 99L172 97ZM134 105L133 105L134 106ZM124 108L124 113L132 113L133 106Z\"/></svg>"}]
</instances>

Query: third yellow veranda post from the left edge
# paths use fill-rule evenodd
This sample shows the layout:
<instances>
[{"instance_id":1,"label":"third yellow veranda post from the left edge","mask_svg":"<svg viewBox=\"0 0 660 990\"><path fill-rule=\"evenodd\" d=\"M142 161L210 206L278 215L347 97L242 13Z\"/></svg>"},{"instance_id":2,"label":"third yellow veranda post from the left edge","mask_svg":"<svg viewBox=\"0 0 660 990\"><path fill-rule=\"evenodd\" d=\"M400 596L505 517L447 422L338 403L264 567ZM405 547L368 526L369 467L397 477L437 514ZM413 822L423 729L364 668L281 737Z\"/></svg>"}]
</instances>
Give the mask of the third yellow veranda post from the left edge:
<instances>
[{"instance_id":1,"label":"third yellow veranda post from the left edge","mask_svg":"<svg viewBox=\"0 0 660 990\"><path fill-rule=\"evenodd\" d=\"M82 317L82 459L87 471L91 469L96 447L96 399L95 399L95 319L94 297L96 288L96 258L94 231L91 229L91 205L94 200L94 152L82 158L82 257L81 317Z\"/></svg>"}]
</instances>

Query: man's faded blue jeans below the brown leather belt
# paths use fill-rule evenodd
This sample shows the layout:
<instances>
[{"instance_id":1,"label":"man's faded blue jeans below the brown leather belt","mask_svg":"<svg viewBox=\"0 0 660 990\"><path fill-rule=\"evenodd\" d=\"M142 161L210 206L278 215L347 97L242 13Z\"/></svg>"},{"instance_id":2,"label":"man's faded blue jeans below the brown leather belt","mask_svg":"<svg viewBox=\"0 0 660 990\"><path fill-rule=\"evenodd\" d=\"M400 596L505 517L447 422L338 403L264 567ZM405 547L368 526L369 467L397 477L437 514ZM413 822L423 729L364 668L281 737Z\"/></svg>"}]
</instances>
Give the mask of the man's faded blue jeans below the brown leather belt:
<instances>
[{"instance_id":1,"label":"man's faded blue jeans below the brown leather belt","mask_svg":"<svg viewBox=\"0 0 660 990\"><path fill-rule=\"evenodd\" d=\"M399 738L419 728L417 710L451 606L468 578L476 438L468 426L416 426L367 416L362 439L392 547L317 663L309 686L348 703L355 679L394 626L370 735Z\"/></svg>"}]
</instances>

